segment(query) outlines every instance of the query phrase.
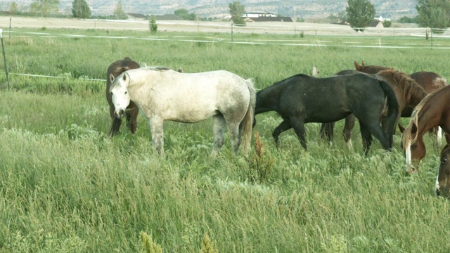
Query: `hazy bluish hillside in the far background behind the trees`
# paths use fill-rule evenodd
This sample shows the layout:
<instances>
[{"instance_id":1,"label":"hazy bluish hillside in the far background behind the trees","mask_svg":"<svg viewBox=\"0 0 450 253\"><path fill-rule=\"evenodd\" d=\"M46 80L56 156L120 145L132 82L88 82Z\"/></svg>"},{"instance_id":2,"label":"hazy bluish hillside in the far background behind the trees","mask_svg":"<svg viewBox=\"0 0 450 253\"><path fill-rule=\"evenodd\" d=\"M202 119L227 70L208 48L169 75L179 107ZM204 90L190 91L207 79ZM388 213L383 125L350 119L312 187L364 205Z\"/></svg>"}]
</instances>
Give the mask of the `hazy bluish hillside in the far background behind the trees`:
<instances>
[{"instance_id":1,"label":"hazy bluish hillside in the far background behind the trees","mask_svg":"<svg viewBox=\"0 0 450 253\"><path fill-rule=\"evenodd\" d=\"M0 8L8 11L8 6L15 1L21 8L30 6L33 0L5 0L1 1ZM110 0L86 0L91 7L93 15L112 14L117 4ZM127 13L141 14L172 14L179 8L186 8L190 13L201 17L224 17L229 15L230 0L122 0L122 6ZM345 11L347 0L242 0L245 11L267 11L278 15L293 18L325 18ZM377 15L384 18L400 18L404 15L417 15L417 0L372 0ZM72 0L60 0L60 9L70 12Z\"/></svg>"}]
</instances>

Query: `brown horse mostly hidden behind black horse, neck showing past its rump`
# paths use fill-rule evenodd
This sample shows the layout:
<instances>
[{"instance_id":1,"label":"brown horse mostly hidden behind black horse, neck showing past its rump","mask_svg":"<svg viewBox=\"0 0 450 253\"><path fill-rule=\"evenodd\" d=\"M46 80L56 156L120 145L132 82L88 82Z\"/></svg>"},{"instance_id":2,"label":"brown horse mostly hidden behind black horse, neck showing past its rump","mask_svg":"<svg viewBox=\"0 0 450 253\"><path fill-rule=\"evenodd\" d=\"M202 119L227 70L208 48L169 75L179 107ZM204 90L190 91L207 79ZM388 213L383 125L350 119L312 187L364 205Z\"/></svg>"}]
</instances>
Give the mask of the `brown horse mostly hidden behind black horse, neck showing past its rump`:
<instances>
[{"instance_id":1,"label":"brown horse mostly hidden behind black horse, neck showing past its rump","mask_svg":"<svg viewBox=\"0 0 450 253\"><path fill-rule=\"evenodd\" d=\"M358 73L356 70L342 70L335 75L342 74L355 74ZM399 72L392 68L381 70L377 74L368 74L371 77L379 79L386 82L394 90L395 97L397 98L397 103L399 105L399 110L401 115L398 115L396 122L398 122L399 117L410 117L411 114L404 115L405 108L414 108L420 100L427 96L426 91L418 85L411 77L403 72ZM344 135L345 142L350 145L352 129L354 127L355 118L353 115L349 115L345 118L345 126L342 134ZM323 138L328 141L333 139L333 126L334 122L322 124L320 134ZM395 132L395 129L394 129Z\"/></svg>"}]
</instances>

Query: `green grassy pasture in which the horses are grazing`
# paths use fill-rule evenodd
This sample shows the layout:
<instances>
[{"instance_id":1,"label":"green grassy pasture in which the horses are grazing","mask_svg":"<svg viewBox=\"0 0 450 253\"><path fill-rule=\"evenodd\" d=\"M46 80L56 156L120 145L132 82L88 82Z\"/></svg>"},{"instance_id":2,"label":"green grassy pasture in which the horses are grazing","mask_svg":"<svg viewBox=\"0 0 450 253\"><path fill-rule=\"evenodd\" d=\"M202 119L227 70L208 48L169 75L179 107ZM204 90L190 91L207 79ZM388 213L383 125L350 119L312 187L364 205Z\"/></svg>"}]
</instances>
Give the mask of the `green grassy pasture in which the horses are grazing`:
<instances>
[{"instance_id":1,"label":"green grassy pasture in which the horses are grazing","mask_svg":"<svg viewBox=\"0 0 450 253\"><path fill-rule=\"evenodd\" d=\"M348 150L343 122L332 145L307 124L308 150L292 130L277 149L271 133L281 118L270 112L257 115L260 139L248 157L233 153L228 136L210 157L208 119L165 122L163 158L142 115L135 136L122 125L108 137L105 82L89 80L105 79L125 56L184 72L228 70L257 89L313 66L328 77L354 60L450 78L449 39L234 34L231 43L221 33L44 27L11 35L9 91L0 74L0 252L142 252L141 232L164 252L199 252L205 235L219 252L450 250L449 202L433 189L443 144L432 136L408 176L398 130L394 150L374 139L367 157L359 127Z\"/></svg>"}]
</instances>

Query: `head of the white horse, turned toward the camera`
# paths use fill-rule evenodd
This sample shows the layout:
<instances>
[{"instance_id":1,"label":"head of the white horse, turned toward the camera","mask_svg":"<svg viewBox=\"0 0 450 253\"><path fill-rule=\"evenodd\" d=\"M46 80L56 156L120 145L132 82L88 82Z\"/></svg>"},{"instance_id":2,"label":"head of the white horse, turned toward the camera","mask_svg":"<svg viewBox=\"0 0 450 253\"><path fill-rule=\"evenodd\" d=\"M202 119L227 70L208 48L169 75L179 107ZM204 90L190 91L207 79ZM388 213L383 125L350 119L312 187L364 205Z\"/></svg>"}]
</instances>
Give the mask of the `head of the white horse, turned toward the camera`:
<instances>
[{"instance_id":1,"label":"head of the white horse, turned toward the camera","mask_svg":"<svg viewBox=\"0 0 450 253\"><path fill-rule=\"evenodd\" d=\"M123 117L130 102L128 93L129 75L127 72L123 72L115 79L113 74L110 74L110 81L110 93L115 107L115 116Z\"/></svg>"}]
</instances>

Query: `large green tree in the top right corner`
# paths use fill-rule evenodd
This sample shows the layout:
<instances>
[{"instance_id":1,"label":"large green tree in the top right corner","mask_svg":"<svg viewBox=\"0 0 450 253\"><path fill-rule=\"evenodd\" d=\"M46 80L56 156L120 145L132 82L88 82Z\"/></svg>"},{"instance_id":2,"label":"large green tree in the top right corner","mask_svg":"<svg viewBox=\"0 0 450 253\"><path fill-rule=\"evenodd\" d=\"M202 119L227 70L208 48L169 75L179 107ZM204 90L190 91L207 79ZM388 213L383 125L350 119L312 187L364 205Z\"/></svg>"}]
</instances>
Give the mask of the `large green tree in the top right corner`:
<instances>
[{"instance_id":1,"label":"large green tree in the top right corner","mask_svg":"<svg viewBox=\"0 0 450 253\"><path fill-rule=\"evenodd\" d=\"M450 25L450 1L418 0L416 6L418 25L431 27L432 32L442 33Z\"/></svg>"}]
</instances>

